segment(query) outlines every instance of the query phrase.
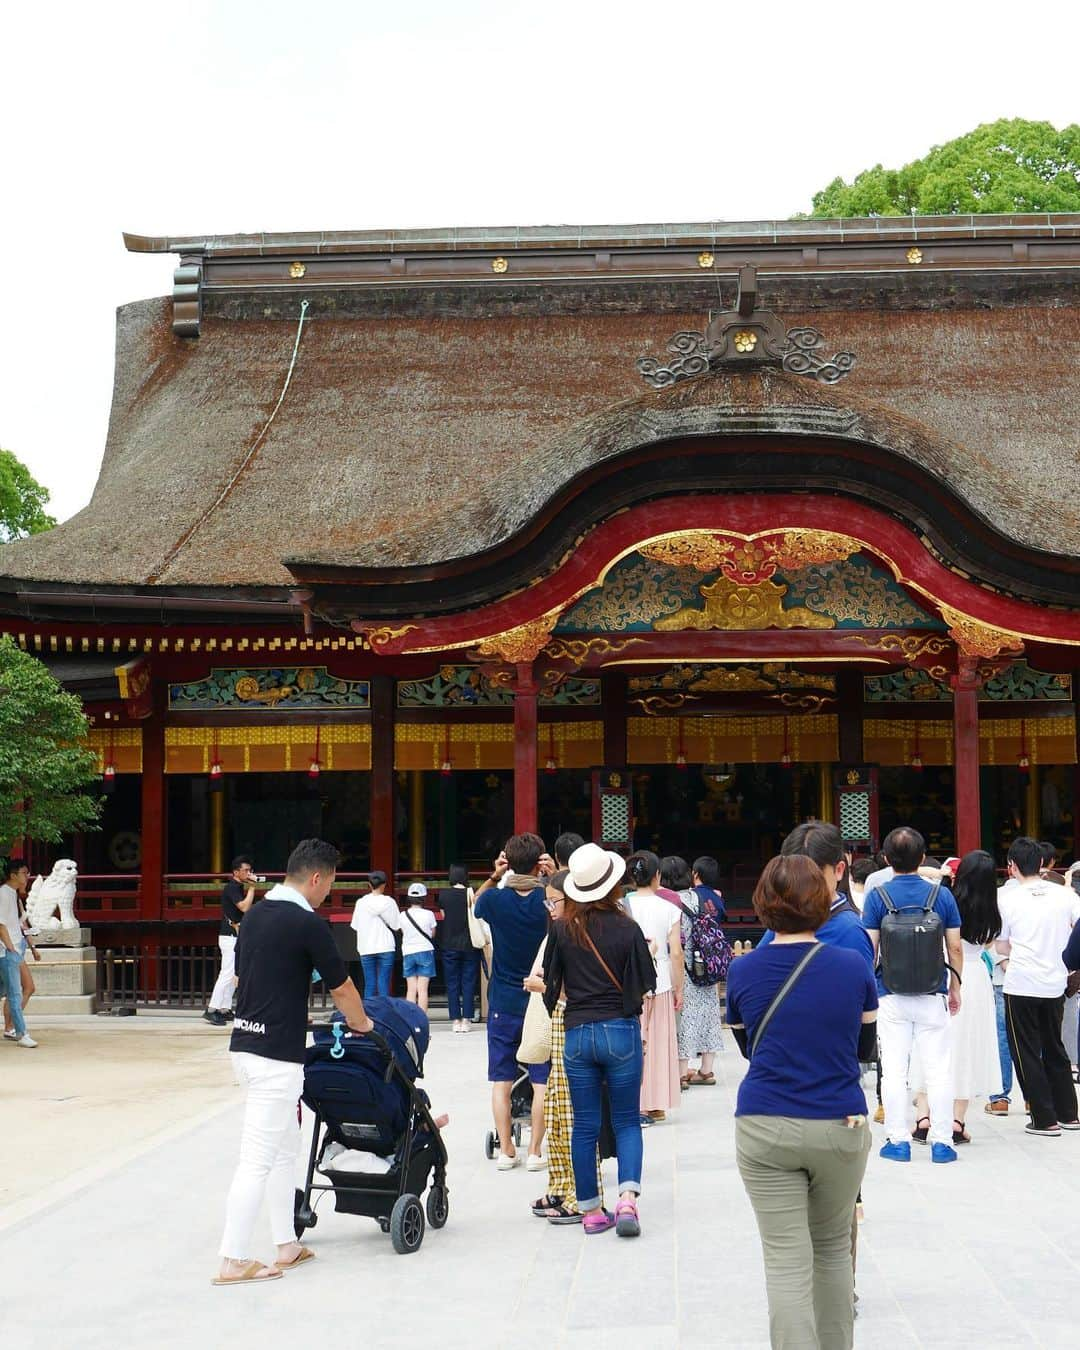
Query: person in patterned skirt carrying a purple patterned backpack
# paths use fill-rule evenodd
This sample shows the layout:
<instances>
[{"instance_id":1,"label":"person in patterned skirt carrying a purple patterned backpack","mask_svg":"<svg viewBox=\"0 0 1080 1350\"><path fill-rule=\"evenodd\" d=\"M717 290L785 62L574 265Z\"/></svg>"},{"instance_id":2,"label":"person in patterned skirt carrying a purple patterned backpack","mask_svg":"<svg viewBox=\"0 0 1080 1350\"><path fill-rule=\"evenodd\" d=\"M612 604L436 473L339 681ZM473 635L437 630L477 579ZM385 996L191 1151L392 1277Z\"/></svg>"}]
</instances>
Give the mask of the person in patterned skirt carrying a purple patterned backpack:
<instances>
[{"instance_id":1,"label":"person in patterned skirt carrying a purple patterned backpack","mask_svg":"<svg viewBox=\"0 0 1080 1350\"><path fill-rule=\"evenodd\" d=\"M724 936L720 919L724 902L702 899L694 890L690 868L680 857L666 857L660 863L660 880L682 911L682 945L686 968L683 981L683 1010L679 1014L679 1087L714 1087L716 1056L724 1049L724 1017L720 986L732 964L732 946ZM701 1068L690 1072L690 1061L701 1056Z\"/></svg>"}]
</instances>

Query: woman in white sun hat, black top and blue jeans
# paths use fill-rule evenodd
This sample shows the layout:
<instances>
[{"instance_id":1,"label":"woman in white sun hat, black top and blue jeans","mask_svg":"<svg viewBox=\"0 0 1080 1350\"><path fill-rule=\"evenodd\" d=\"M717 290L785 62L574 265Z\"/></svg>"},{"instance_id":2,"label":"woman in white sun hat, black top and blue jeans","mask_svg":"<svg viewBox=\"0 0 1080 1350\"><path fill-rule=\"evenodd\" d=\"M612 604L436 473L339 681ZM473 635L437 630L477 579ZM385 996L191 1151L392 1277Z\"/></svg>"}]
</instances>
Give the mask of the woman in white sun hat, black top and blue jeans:
<instances>
[{"instance_id":1,"label":"woman in white sun hat, black top and blue jeans","mask_svg":"<svg viewBox=\"0 0 1080 1350\"><path fill-rule=\"evenodd\" d=\"M548 1011L566 999L563 1062L574 1106L570 1153L578 1208L587 1234L641 1231L641 1003L656 988L656 971L641 929L618 894L626 864L618 853L583 844L570 856L563 914L551 926L544 956ZM614 1214L597 1195L597 1141L602 1091L608 1088L618 1156Z\"/></svg>"}]
</instances>

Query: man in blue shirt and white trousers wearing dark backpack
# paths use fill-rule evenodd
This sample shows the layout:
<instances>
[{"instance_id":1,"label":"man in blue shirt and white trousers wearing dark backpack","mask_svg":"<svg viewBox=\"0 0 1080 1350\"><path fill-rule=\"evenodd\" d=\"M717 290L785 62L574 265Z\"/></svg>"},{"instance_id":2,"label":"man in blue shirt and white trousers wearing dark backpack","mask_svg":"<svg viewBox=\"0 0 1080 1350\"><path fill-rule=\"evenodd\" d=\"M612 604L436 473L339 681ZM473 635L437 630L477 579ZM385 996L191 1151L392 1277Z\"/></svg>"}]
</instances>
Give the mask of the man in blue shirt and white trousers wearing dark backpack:
<instances>
[{"instance_id":1,"label":"man in blue shirt and white trousers wearing dark backpack","mask_svg":"<svg viewBox=\"0 0 1080 1350\"><path fill-rule=\"evenodd\" d=\"M882 1102L891 1162L911 1161L907 1087L911 1050L918 1046L929 1099L932 1162L956 1162L949 1017L960 1011L964 948L960 910L952 894L918 875L926 844L907 825L886 837L892 880L867 887L863 926L878 961L878 1040L882 1053ZM948 950L948 965L946 965Z\"/></svg>"}]
</instances>

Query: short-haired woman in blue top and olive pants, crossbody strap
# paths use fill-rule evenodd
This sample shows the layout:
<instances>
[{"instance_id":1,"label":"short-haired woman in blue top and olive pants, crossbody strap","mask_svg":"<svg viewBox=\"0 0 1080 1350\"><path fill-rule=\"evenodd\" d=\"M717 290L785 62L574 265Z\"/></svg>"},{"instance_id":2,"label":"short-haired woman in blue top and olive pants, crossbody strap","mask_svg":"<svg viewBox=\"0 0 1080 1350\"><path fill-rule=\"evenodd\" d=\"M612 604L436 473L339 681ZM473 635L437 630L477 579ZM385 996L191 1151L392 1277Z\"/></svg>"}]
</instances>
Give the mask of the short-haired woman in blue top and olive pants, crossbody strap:
<instances>
[{"instance_id":1,"label":"short-haired woman in blue top and olive pants, crossbody strap","mask_svg":"<svg viewBox=\"0 0 1080 1350\"><path fill-rule=\"evenodd\" d=\"M859 1060L878 988L855 952L818 942L832 896L809 857L775 857L753 892L772 941L728 975L728 1023L751 1066L736 1158L757 1218L774 1346L849 1347L852 1211L871 1133Z\"/></svg>"}]
</instances>

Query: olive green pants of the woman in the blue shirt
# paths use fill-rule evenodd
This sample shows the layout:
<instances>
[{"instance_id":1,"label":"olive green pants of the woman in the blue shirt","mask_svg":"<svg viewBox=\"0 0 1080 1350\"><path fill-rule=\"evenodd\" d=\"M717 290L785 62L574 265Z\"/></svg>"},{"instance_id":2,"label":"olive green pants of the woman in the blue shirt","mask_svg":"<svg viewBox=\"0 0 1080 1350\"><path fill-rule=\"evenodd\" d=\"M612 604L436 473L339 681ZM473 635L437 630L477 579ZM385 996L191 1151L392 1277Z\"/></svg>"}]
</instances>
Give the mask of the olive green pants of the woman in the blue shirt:
<instances>
[{"instance_id":1,"label":"olive green pants of the woman in the blue shirt","mask_svg":"<svg viewBox=\"0 0 1080 1350\"><path fill-rule=\"evenodd\" d=\"M774 1350L850 1350L852 1214L869 1126L741 1115L734 1137L761 1234Z\"/></svg>"}]
</instances>

